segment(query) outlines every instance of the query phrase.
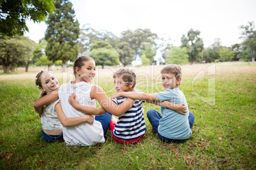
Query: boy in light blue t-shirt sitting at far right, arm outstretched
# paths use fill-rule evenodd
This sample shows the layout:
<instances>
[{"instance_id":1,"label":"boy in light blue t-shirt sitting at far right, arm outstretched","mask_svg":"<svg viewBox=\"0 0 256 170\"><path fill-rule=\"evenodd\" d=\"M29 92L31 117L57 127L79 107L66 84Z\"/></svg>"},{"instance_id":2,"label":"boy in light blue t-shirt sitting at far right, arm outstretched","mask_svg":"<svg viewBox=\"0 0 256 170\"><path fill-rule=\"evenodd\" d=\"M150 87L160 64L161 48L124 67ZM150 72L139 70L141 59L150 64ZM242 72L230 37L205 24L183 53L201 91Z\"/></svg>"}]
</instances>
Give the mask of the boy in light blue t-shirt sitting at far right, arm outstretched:
<instances>
[{"instance_id":1,"label":"boy in light blue t-shirt sitting at far right, arm outstretched","mask_svg":"<svg viewBox=\"0 0 256 170\"><path fill-rule=\"evenodd\" d=\"M192 135L191 128L194 124L194 115L188 111L187 100L179 89L182 75L181 68L174 64L167 65L161 70L161 74L162 86L166 89L165 91L155 94L141 93L138 91L119 91L113 94L112 98L125 96L134 100L146 100L150 103L155 101L171 101L176 104L185 103L187 113L189 114L181 115L175 110L162 106L162 115L153 109L147 112L148 120L160 140L180 143L186 141Z\"/></svg>"}]
</instances>

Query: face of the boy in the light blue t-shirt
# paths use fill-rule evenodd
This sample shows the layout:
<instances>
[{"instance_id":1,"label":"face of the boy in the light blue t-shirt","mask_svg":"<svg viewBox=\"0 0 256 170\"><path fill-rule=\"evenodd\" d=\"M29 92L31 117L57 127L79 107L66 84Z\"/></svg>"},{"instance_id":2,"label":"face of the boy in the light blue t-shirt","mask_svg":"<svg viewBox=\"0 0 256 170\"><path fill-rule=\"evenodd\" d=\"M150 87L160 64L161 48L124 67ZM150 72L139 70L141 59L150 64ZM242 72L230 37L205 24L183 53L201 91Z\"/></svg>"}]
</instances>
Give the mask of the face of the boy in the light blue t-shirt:
<instances>
[{"instance_id":1,"label":"face of the boy in the light blue t-shirt","mask_svg":"<svg viewBox=\"0 0 256 170\"><path fill-rule=\"evenodd\" d=\"M179 78L180 79L180 78ZM164 89L177 88L180 83L179 79L176 79L174 74L162 74L162 86Z\"/></svg>"}]
</instances>

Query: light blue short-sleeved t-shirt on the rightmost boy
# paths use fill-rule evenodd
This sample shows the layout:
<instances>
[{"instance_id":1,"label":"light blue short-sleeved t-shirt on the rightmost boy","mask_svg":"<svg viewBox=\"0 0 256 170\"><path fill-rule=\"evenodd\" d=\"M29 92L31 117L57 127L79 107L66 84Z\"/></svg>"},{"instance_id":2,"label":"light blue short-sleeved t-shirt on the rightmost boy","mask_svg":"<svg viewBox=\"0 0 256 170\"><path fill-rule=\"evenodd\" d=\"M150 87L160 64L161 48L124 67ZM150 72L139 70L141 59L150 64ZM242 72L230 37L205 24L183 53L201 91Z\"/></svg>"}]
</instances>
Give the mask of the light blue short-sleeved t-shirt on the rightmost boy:
<instances>
[{"instance_id":1,"label":"light blue short-sleeved t-shirt on the rightmost boy","mask_svg":"<svg viewBox=\"0 0 256 170\"><path fill-rule=\"evenodd\" d=\"M169 139L185 140L192 135L188 123L188 105L187 100L179 88L166 89L160 93L155 93L159 101L171 101L172 103L184 103L187 107L186 115L178 114L178 112L166 107L161 107L162 119L159 121L159 133Z\"/></svg>"}]
</instances>

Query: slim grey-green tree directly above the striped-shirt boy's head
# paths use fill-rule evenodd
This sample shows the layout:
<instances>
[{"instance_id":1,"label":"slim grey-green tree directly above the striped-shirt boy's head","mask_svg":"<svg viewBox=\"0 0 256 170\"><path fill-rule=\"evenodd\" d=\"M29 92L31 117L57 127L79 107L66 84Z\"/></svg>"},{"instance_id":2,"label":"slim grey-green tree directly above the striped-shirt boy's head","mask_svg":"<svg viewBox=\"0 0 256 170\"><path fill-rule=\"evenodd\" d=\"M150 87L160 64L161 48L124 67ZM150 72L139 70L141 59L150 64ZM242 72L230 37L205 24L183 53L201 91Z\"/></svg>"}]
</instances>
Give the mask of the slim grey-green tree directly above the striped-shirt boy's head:
<instances>
[{"instance_id":1,"label":"slim grey-green tree directly above the striped-shirt boy's head","mask_svg":"<svg viewBox=\"0 0 256 170\"><path fill-rule=\"evenodd\" d=\"M117 44L116 50L124 67L132 63L134 50L129 47L128 42L120 42Z\"/></svg>"}]
</instances>

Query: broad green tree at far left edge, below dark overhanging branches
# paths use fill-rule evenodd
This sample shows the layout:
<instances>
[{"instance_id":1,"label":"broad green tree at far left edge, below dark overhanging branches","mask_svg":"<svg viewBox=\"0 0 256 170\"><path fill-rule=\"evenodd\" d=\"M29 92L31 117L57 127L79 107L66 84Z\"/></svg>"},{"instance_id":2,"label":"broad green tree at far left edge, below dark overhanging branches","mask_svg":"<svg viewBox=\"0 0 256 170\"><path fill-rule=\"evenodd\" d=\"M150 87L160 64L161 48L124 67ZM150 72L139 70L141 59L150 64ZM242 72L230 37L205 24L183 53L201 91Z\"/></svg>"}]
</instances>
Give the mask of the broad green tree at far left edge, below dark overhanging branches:
<instances>
[{"instance_id":1,"label":"broad green tree at far left edge, below dark overhanging branches","mask_svg":"<svg viewBox=\"0 0 256 170\"><path fill-rule=\"evenodd\" d=\"M29 63L32 62L32 49L35 42L27 37L8 37L0 41L0 60L3 65L4 73L14 72L17 64L24 65L28 71Z\"/></svg>"}]
</instances>

